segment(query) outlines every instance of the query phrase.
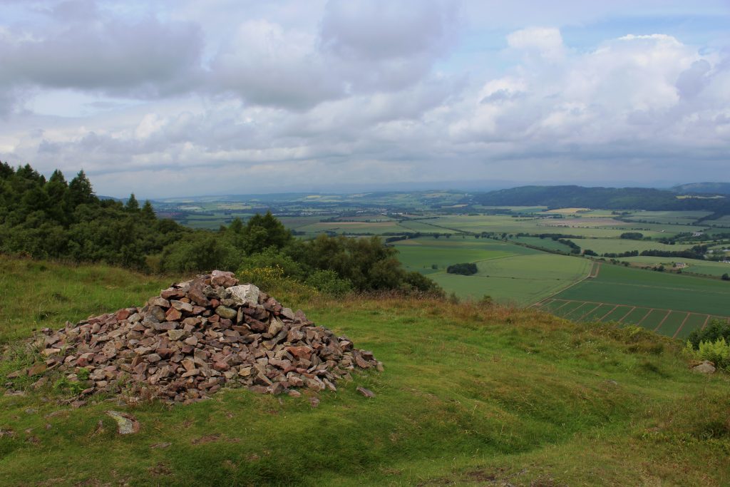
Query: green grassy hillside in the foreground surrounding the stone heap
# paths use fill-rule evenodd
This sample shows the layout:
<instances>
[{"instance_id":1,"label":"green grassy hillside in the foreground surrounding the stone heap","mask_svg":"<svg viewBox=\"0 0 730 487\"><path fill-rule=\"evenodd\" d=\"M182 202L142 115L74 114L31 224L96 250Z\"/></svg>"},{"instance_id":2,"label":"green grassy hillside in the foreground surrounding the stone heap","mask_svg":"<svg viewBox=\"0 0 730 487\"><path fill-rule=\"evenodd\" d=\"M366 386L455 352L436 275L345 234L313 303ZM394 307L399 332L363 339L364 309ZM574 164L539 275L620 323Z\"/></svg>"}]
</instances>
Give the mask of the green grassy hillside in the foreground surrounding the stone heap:
<instances>
[{"instance_id":1,"label":"green grassy hillside in the foreground surrounding the stone heap","mask_svg":"<svg viewBox=\"0 0 730 487\"><path fill-rule=\"evenodd\" d=\"M141 304L174 279L0 257L0 386L31 359L19 337ZM680 342L533 310L272 294L373 350L385 372L339 383L316 408L309 391L74 409L50 386L0 388L0 484L730 483L728 376L691 372ZM110 409L141 431L116 434Z\"/></svg>"}]
</instances>

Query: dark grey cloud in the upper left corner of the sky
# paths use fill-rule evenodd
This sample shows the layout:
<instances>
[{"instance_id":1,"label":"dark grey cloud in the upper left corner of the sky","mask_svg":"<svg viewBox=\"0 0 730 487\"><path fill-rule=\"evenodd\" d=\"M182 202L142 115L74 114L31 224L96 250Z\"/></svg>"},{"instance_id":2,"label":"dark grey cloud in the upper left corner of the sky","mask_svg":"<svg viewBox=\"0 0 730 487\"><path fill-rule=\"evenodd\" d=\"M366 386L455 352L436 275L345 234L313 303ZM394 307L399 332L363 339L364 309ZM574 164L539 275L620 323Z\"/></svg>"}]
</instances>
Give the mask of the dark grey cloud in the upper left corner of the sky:
<instances>
[{"instance_id":1,"label":"dark grey cloud in the upper left corner of the sky","mask_svg":"<svg viewBox=\"0 0 730 487\"><path fill-rule=\"evenodd\" d=\"M66 1L42 12L44 22L6 28L0 37L6 87L150 99L197 83L202 39L193 23L124 20L93 1Z\"/></svg>"}]
</instances>

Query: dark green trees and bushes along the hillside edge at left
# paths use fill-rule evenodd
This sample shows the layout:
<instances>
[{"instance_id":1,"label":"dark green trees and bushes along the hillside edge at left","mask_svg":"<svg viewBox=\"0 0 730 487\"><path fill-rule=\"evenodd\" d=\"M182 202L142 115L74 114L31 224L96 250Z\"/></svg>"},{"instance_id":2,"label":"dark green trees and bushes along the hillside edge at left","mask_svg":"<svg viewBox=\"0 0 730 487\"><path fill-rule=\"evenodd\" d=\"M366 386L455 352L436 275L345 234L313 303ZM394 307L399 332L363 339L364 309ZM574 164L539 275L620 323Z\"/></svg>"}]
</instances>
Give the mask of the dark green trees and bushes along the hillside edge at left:
<instances>
[{"instance_id":1,"label":"dark green trees and bushes along the hillside edge at left","mask_svg":"<svg viewBox=\"0 0 730 487\"><path fill-rule=\"evenodd\" d=\"M323 290L442 293L407 272L379 237L293 237L271 212L235 219L217 231L157 218L149 201L99 199L83 171L48 179L30 165L0 163L0 252L74 262L103 262L143 272L276 267Z\"/></svg>"}]
</instances>

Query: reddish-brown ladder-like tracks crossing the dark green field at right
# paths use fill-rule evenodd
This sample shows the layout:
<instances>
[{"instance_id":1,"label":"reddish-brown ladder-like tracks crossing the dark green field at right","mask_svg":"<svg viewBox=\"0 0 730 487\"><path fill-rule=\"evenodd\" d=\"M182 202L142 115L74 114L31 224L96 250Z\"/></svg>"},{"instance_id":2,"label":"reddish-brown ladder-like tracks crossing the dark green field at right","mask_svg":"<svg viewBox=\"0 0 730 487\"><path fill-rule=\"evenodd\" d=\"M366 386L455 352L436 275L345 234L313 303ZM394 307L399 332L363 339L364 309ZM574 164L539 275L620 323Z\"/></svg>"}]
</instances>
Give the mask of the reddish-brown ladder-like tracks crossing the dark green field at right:
<instances>
[{"instance_id":1,"label":"reddish-brown ladder-like tracks crossing the dark green field at right","mask_svg":"<svg viewBox=\"0 0 730 487\"><path fill-rule=\"evenodd\" d=\"M556 304L556 303L561 303L561 304L559 304L558 307L556 307L554 310L546 309L548 304ZM576 307L572 307L565 314L561 314L560 310L569 304L578 304L578 305ZM583 310L585 310L586 306L588 306L590 309L588 310L588 312L583 312ZM702 319L702 317L704 317L702 326L697 326L696 323L694 323L693 329L705 329L707 327L707 323L710 323L710 321L712 319L719 319L719 320L727 321L728 323L730 323L730 316L711 315L711 314L704 313L704 312L694 312L694 311L685 311L685 310L668 310L668 309L662 309L662 308L649 308L649 307L642 308L639 306L633 306L631 304L616 304L616 303L608 303L608 302L583 301L580 299L558 299L558 298L550 297L550 298L543 299L541 302L533 304L531 307L537 307L539 309L544 309L546 312L549 312L552 315L556 315L556 316L560 316L561 318L566 318L569 320L580 322L580 321L583 321L584 318L590 316L591 313L595 312L596 310L599 309L599 307L602 307L602 306L610 306L611 309L607 313L602 315L600 318L597 318L596 320L591 320L591 321L603 322L608 316L612 315L612 313L615 312L615 310L618 310L619 307L626 308L627 311L626 311L626 313L623 314L623 316L621 316L621 318L619 318L618 320L612 320L612 321L616 321L617 323L623 323L623 324L633 324L636 326L642 326L642 323L644 323L644 321L652 313L656 313L656 312L664 313L664 317L661 318L661 321L659 321L658 325L653 326L653 328L651 328L655 332L658 332L662 328L662 326L664 326L664 323L669 318L669 316L672 315L672 313L675 313L675 315L678 315L678 318L681 319L682 322L677 325L675 330L664 333L667 336L671 336L672 338L680 337L680 334L682 334L682 332L685 330L685 326L688 325L688 321L691 321L691 318L693 315L695 315L697 318L700 318L700 319ZM626 320L626 318L628 318L629 315L631 315L637 309L645 310L644 314L641 315L640 318L637 317L638 321L636 321L635 323L628 323L628 322L625 323L624 321ZM580 318L575 318L575 316L578 314L577 312L579 312L579 310L580 310ZM684 315L684 316L682 316L682 315ZM573 318L571 318L571 317L573 317ZM634 319L636 319L636 318L634 318Z\"/></svg>"}]
</instances>

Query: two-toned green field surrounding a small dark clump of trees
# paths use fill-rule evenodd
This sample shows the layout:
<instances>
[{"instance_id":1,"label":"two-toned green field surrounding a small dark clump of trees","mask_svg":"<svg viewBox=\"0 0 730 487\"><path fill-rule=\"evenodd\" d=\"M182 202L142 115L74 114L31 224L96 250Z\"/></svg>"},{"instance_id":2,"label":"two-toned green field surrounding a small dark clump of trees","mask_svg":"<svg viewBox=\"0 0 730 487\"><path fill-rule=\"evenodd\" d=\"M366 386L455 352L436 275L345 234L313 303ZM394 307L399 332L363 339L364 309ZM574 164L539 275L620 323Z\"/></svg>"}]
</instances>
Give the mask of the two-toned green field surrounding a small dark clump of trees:
<instances>
[{"instance_id":1,"label":"two-toned green field surrounding a small dark clump of trees","mask_svg":"<svg viewBox=\"0 0 730 487\"><path fill-rule=\"evenodd\" d=\"M397 242L395 247L407 269L428 275L447 292L469 299L491 296L498 302L521 306L555 294L591 269L588 259L489 239L419 238ZM476 263L477 274L445 272L450 264L463 262Z\"/></svg>"}]
</instances>

